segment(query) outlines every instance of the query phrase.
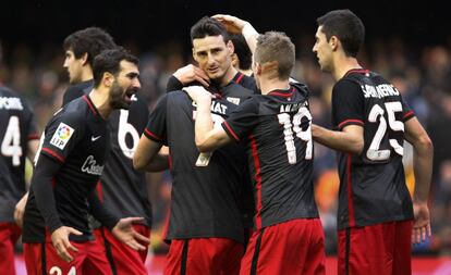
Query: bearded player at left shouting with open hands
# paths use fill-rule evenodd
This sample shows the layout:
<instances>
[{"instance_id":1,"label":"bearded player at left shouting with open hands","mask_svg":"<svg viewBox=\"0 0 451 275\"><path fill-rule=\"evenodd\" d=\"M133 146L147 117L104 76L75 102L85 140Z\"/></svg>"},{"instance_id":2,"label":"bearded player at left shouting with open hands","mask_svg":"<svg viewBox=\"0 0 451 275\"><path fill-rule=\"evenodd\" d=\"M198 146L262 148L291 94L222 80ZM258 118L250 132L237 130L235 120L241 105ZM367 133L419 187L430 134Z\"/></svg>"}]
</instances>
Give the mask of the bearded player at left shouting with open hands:
<instances>
[{"instance_id":1,"label":"bearded player at left shouting with open hands","mask_svg":"<svg viewBox=\"0 0 451 275\"><path fill-rule=\"evenodd\" d=\"M149 241L132 226L143 217L117 217L94 191L110 150L106 120L127 109L141 87L137 59L122 48L105 51L93 74L89 95L60 109L45 129L24 214L28 274L112 274L88 226L89 212L135 250Z\"/></svg>"}]
</instances>

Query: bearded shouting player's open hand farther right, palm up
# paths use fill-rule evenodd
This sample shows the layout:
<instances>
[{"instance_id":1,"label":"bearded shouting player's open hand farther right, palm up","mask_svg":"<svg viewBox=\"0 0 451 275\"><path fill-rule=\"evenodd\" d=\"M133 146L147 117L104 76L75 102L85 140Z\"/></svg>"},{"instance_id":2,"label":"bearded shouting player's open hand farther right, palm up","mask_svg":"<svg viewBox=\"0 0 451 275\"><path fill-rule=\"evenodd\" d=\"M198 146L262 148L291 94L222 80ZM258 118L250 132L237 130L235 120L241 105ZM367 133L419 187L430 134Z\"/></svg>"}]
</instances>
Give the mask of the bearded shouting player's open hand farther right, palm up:
<instances>
[{"instance_id":1,"label":"bearded shouting player's open hand farther right, palm up","mask_svg":"<svg viewBox=\"0 0 451 275\"><path fill-rule=\"evenodd\" d=\"M139 233L133 229L133 223L141 223L144 221L144 217L123 217L119 220L118 224L112 228L111 233L117 239L124 242L134 250L145 250L146 247L141 245L138 241L142 241L148 246L150 240L148 237L141 235Z\"/></svg>"}]
</instances>

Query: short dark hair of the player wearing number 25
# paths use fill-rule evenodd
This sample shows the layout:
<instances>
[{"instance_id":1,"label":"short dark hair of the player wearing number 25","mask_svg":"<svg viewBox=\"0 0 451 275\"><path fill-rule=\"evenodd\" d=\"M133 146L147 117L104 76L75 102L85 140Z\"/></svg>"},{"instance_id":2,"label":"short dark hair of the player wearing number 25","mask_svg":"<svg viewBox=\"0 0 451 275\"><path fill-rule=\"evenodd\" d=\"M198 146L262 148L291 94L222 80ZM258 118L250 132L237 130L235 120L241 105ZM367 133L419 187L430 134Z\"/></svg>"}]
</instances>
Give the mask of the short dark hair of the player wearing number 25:
<instances>
[{"instance_id":1,"label":"short dark hair of the player wearing number 25","mask_svg":"<svg viewBox=\"0 0 451 275\"><path fill-rule=\"evenodd\" d=\"M361 18L350 10L334 10L316 20L322 26L327 40L332 36L340 39L346 57L356 58L365 40L365 26Z\"/></svg>"}]
</instances>

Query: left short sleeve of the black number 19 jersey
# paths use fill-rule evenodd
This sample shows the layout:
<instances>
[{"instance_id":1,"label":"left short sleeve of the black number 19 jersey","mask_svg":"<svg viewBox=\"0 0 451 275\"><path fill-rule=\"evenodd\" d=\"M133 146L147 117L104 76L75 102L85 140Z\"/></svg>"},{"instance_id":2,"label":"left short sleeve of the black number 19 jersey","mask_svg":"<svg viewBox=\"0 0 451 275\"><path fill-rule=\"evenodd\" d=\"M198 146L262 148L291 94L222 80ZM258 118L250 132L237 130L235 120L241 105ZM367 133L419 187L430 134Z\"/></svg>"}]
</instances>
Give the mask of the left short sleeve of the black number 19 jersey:
<instances>
[{"instance_id":1,"label":"left short sleeve of the black number 19 jersey","mask_svg":"<svg viewBox=\"0 0 451 275\"><path fill-rule=\"evenodd\" d=\"M258 123L258 104L254 98L244 101L229 118L222 123L222 128L232 139L240 141L246 138Z\"/></svg>"}]
</instances>

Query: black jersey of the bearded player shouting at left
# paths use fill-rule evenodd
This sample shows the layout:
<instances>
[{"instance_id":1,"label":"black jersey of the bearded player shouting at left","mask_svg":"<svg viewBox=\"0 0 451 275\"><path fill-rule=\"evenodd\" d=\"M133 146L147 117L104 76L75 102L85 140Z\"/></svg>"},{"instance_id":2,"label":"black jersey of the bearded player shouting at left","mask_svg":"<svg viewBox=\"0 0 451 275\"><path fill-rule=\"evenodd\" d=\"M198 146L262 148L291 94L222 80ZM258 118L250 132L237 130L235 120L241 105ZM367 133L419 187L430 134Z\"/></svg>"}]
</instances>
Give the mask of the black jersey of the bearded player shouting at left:
<instances>
[{"instance_id":1,"label":"black jersey of the bearded player shouting at left","mask_svg":"<svg viewBox=\"0 0 451 275\"><path fill-rule=\"evenodd\" d=\"M110 149L110 132L88 96L83 96L58 111L45 128L39 157L51 158L60 168L54 175L56 208L65 226L74 227L83 236L71 235L75 241L92 239L88 227L87 197L95 189L103 171ZM39 212L32 180L25 208L23 241L42 242L46 224ZM48 226L48 225L47 225Z\"/></svg>"}]
</instances>

